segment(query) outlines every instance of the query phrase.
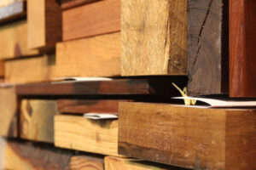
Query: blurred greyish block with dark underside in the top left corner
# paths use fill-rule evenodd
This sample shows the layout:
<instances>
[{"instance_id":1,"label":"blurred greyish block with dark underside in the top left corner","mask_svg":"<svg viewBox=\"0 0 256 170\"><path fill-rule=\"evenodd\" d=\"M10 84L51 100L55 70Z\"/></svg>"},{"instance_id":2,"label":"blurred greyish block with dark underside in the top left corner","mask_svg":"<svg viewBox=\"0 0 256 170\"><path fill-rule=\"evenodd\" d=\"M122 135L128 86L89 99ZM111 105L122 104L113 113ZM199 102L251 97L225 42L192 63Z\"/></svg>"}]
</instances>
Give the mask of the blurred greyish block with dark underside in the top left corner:
<instances>
[{"instance_id":1,"label":"blurred greyish block with dark underside in the top left corner","mask_svg":"<svg viewBox=\"0 0 256 170\"><path fill-rule=\"evenodd\" d=\"M0 25L26 17L26 1L9 3L0 8Z\"/></svg>"}]
</instances>

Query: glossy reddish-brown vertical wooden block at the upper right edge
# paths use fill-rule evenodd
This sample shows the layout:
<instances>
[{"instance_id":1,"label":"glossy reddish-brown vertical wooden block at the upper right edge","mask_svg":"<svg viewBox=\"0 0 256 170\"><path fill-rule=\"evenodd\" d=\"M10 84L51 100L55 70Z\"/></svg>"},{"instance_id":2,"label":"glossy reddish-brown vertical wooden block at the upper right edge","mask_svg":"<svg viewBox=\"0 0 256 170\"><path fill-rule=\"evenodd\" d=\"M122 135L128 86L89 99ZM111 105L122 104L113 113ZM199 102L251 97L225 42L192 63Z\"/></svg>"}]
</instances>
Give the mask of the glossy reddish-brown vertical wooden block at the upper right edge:
<instances>
[{"instance_id":1,"label":"glossy reddish-brown vertical wooden block at the upper right edge","mask_svg":"<svg viewBox=\"0 0 256 170\"><path fill-rule=\"evenodd\" d=\"M256 97L256 2L230 1L230 96Z\"/></svg>"}]
</instances>

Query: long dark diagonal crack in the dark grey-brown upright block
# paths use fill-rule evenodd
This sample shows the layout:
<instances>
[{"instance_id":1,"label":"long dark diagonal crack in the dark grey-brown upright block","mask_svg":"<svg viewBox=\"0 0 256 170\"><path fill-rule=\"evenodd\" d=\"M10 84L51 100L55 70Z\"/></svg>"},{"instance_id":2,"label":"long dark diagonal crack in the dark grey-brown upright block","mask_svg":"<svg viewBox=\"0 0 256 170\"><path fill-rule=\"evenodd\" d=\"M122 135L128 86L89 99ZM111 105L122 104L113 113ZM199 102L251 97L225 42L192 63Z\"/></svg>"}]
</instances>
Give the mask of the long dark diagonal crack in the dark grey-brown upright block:
<instances>
[{"instance_id":1,"label":"long dark diagonal crack in the dark grey-brown upright block","mask_svg":"<svg viewBox=\"0 0 256 170\"><path fill-rule=\"evenodd\" d=\"M212 1L213 1L213 0L210 1L209 5L208 5L208 7L207 7L207 14L206 14L206 16L205 16L205 20L203 21L203 23L202 23L202 25L201 25L201 29L200 29L199 34L198 34L198 37L197 37L198 48L197 48L197 51L196 51L196 54L195 54L195 59L194 59L193 65L192 65L192 67L191 67L192 69L193 69L194 66L195 66L195 63L196 63L196 61L197 61L197 59L198 59L198 56L199 56L199 52L200 52L200 50L201 50L201 44L202 44L202 42L201 42L201 34L202 34L202 32L203 32L203 30L204 30L204 27L206 26L206 23L207 23L207 19L208 19L208 16L209 16L209 14L210 14L210 9L211 9L211 7L212 7Z\"/></svg>"}]
</instances>

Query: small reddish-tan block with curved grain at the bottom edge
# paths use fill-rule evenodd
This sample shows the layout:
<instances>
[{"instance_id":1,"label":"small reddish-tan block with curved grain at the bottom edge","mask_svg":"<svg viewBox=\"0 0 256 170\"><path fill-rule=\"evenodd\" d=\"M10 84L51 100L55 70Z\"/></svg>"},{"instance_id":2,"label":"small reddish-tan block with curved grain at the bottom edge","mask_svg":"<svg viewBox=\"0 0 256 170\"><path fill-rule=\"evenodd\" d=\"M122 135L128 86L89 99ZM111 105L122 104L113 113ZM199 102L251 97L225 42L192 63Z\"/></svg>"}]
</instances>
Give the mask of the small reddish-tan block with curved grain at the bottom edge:
<instances>
[{"instance_id":1,"label":"small reddish-tan block with curved grain at the bottom edge","mask_svg":"<svg viewBox=\"0 0 256 170\"><path fill-rule=\"evenodd\" d=\"M103 170L104 160L91 156L73 156L70 162L71 170Z\"/></svg>"}]
</instances>

